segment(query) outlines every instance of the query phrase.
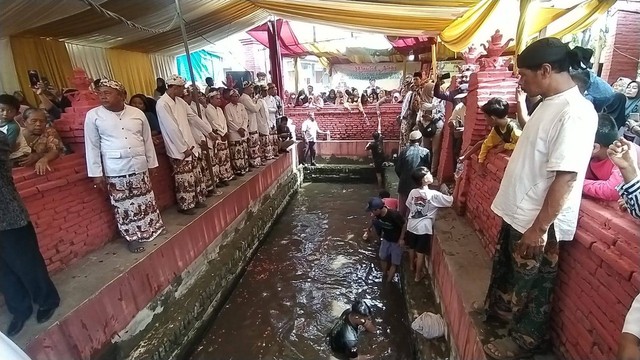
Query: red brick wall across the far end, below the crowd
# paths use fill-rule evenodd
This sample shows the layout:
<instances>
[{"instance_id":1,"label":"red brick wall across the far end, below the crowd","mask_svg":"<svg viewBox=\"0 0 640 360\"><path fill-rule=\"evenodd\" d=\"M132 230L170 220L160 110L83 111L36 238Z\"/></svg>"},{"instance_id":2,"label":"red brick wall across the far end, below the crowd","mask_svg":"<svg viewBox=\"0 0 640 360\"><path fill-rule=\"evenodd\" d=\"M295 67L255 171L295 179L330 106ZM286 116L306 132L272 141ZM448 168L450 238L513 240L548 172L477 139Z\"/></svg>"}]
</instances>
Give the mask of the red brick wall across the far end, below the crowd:
<instances>
[{"instance_id":1,"label":"red brick wall across the far end, below the crowd","mask_svg":"<svg viewBox=\"0 0 640 360\"><path fill-rule=\"evenodd\" d=\"M400 104L385 104L380 106L380 117L382 124L382 135L387 140L400 139L400 126L396 122L396 117L400 115ZM371 134L378 127L378 116L375 105L364 107L369 118L369 123L364 119L360 111L352 110L350 113L345 108L335 106L313 110L320 130L331 132L331 140L371 140ZM285 115L293 120L296 125L297 138L302 139L300 127L302 122L309 116L309 108L286 108ZM319 135L319 140L324 140L324 135Z\"/></svg>"}]
</instances>

